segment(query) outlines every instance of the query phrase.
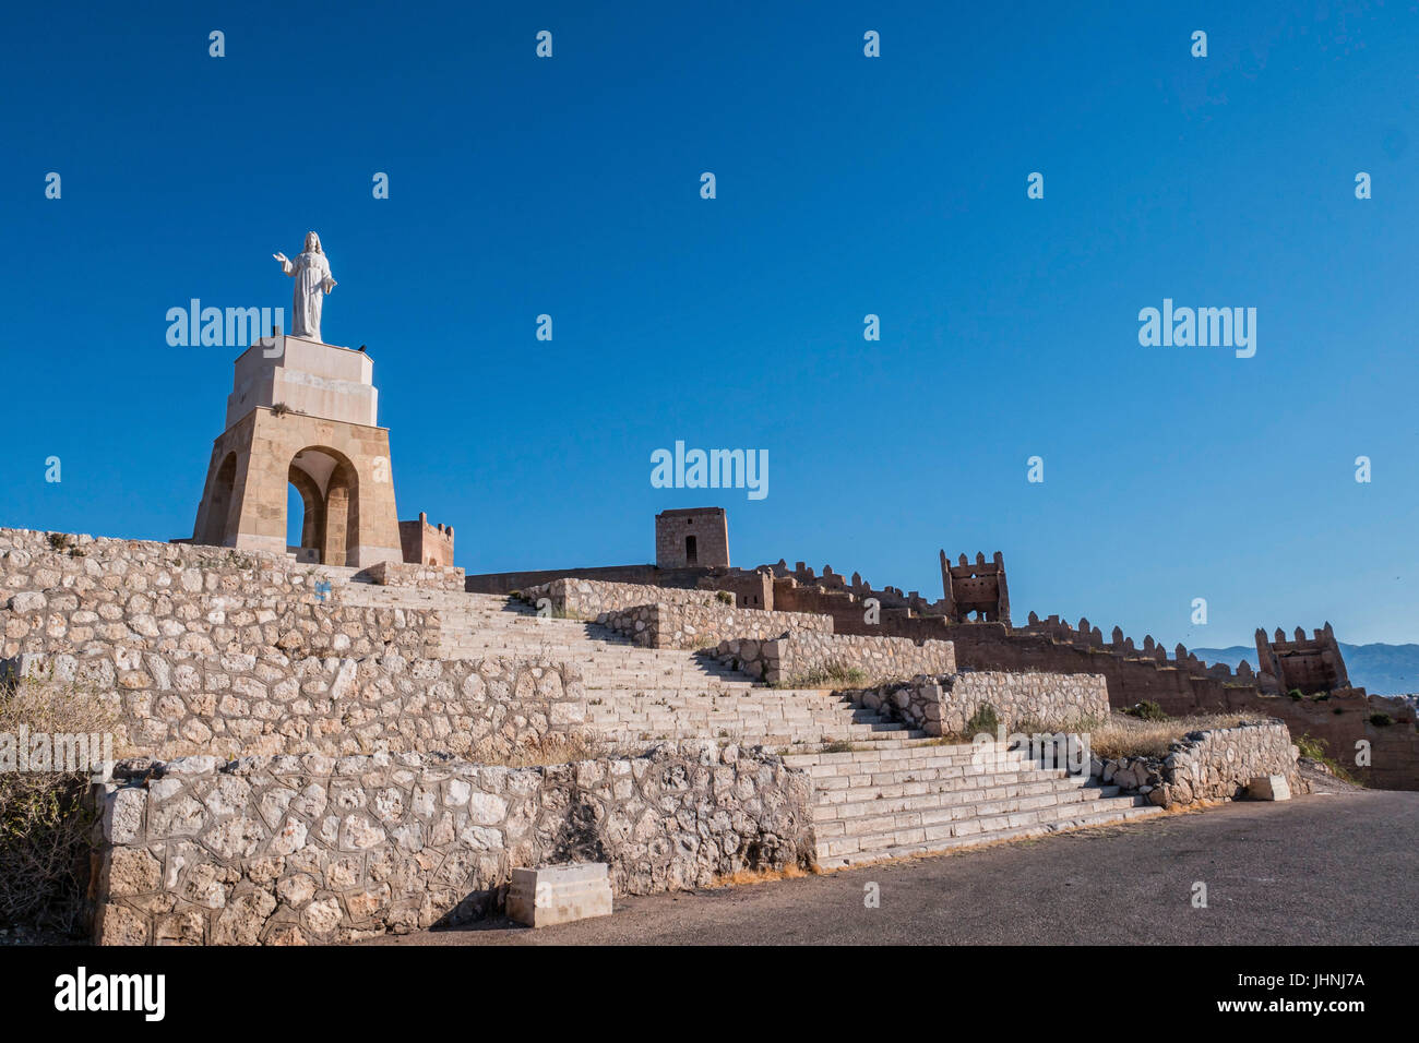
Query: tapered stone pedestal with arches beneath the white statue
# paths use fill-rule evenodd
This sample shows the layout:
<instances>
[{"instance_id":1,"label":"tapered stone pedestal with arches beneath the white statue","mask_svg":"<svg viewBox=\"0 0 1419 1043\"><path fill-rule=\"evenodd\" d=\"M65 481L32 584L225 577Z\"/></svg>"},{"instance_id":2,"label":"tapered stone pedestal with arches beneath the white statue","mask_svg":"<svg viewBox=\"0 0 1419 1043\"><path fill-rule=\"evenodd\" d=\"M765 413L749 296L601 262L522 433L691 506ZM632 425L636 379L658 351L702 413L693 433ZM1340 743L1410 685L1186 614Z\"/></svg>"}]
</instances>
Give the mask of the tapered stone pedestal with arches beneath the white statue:
<instances>
[{"instance_id":1,"label":"tapered stone pedestal with arches beneath the white statue","mask_svg":"<svg viewBox=\"0 0 1419 1043\"><path fill-rule=\"evenodd\" d=\"M251 345L236 363L192 542L324 565L403 561L373 373L363 351L281 333ZM305 504L298 548L285 542L289 485Z\"/></svg>"}]
</instances>

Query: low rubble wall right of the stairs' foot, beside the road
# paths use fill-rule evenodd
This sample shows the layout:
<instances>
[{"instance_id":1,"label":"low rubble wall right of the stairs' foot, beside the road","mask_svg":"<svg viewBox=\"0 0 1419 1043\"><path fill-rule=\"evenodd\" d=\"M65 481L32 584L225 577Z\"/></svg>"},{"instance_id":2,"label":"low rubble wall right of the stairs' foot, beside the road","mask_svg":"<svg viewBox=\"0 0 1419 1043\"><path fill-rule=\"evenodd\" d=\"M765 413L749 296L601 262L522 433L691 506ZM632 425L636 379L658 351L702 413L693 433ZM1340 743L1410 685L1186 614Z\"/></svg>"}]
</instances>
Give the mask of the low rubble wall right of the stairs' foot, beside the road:
<instances>
[{"instance_id":1,"label":"low rubble wall right of the stairs' foot, beside the road","mask_svg":"<svg viewBox=\"0 0 1419 1043\"><path fill-rule=\"evenodd\" d=\"M1300 752L1283 721L1189 732L1165 758L1125 756L1094 761L1093 773L1124 792L1147 796L1162 807L1198 800L1236 800L1252 779L1283 775L1291 793L1310 792L1296 762Z\"/></svg>"}]
</instances>

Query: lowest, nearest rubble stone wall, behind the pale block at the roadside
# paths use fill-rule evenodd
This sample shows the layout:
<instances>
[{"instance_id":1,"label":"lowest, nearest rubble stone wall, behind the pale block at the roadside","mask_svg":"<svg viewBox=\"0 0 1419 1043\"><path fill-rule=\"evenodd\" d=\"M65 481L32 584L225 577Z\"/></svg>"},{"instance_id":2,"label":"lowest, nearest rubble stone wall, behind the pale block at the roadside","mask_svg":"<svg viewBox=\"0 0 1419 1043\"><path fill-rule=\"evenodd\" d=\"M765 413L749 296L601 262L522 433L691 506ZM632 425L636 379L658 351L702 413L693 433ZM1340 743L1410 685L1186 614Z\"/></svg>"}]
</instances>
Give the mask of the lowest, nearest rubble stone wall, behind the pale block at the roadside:
<instances>
[{"instance_id":1,"label":"lowest, nearest rubble stone wall, behind the pale block at the roadside","mask_svg":"<svg viewBox=\"0 0 1419 1043\"><path fill-rule=\"evenodd\" d=\"M626 895L813 851L807 776L708 741L519 769L192 758L108 786L101 822L105 945L349 942L494 912L515 866L606 861Z\"/></svg>"}]
</instances>

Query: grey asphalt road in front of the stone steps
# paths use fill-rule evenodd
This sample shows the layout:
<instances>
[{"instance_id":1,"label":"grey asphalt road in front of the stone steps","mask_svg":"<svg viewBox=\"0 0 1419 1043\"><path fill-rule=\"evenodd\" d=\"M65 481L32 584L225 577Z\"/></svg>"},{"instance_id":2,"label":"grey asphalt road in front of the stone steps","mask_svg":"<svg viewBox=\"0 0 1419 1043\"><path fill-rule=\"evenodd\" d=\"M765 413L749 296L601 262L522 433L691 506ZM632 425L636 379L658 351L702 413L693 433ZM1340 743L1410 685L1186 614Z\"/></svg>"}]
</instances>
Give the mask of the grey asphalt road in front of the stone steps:
<instances>
[{"instance_id":1,"label":"grey asphalt road in front of the stone steps","mask_svg":"<svg viewBox=\"0 0 1419 1043\"><path fill-rule=\"evenodd\" d=\"M1206 908L1193 907L1195 883ZM868 884L878 908L864 907ZM797 880L375 945L1419 944L1419 793L1229 803Z\"/></svg>"}]
</instances>

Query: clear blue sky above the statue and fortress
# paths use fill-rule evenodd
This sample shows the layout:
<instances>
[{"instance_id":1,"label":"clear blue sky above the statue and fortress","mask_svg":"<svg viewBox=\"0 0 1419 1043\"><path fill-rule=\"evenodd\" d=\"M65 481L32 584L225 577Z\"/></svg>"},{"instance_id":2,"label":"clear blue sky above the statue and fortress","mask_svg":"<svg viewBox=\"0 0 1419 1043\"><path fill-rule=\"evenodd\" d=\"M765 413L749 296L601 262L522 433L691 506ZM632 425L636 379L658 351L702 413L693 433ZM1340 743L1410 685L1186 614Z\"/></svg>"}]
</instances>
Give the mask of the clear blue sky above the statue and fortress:
<instances>
[{"instance_id":1,"label":"clear blue sky above the statue and fortress","mask_svg":"<svg viewBox=\"0 0 1419 1043\"><path fill-rule=\"evenodd\" d=\"M165 314L289 308L315 228L470 570L718 502L739 565L939 596L1000 549L1020 620L1419 640L1412 4L89 7L0 41L0 524L190 535L238 352ZM1139 346L1165 297L1257 308L1256 358ZM651 488L677 438L768 498Z\"/></svg>"}]
</instances>

